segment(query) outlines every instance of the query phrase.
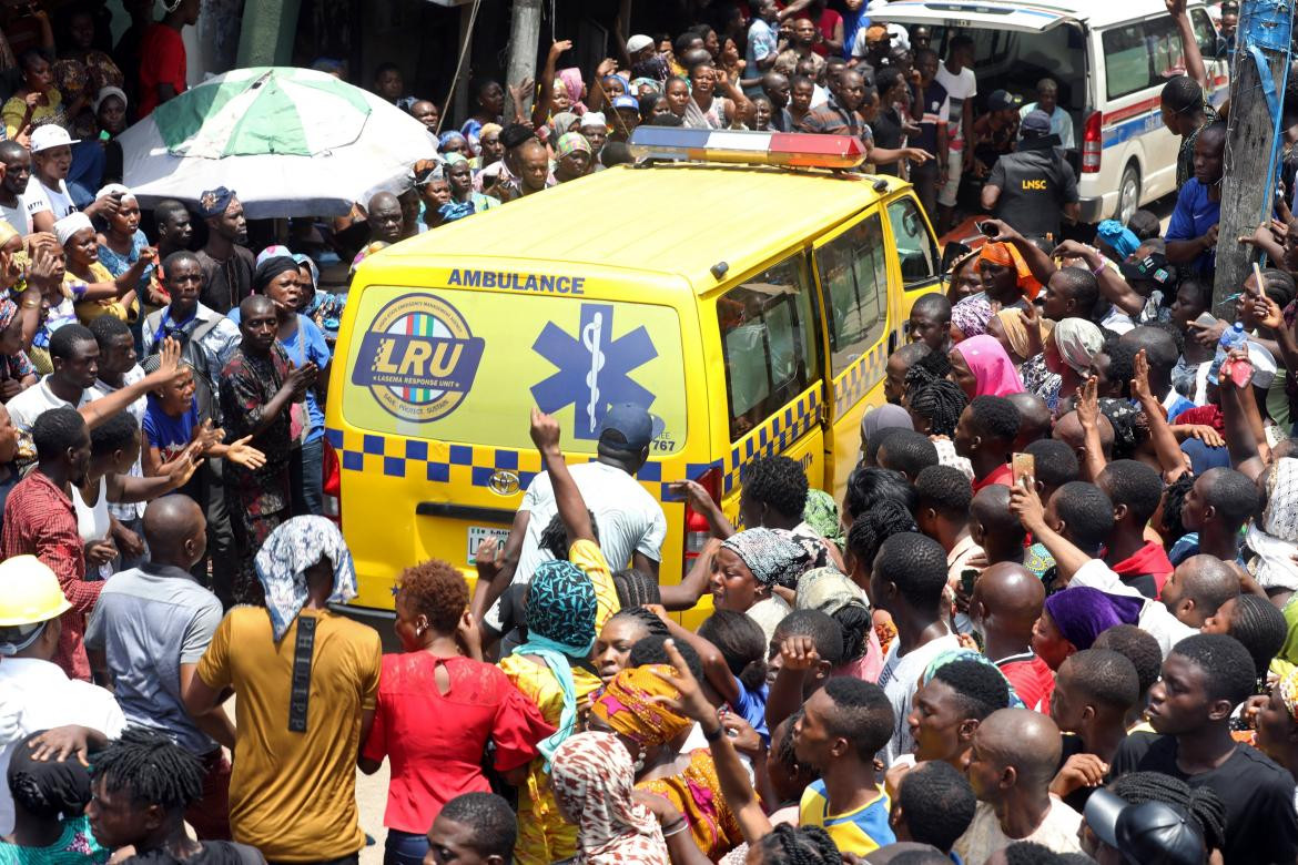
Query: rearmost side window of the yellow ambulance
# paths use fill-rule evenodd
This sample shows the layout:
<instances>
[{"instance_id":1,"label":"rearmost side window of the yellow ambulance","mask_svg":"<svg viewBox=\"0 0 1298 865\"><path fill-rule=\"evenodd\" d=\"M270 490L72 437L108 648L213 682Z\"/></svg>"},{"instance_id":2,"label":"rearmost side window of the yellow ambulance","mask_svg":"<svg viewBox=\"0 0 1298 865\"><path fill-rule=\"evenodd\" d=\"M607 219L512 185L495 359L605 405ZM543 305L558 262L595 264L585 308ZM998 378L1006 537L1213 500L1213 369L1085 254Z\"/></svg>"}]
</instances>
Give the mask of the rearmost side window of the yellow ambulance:
<instances>
[{"instance_id":1,"label":"rearmost side window of the yellow ambulance","mask_svg":"<svg viewBox=\"0 0 1298 865\"><path fill-rule=\"evenodd\" d=\"M726 357L731 441L788 405L816 379L815 323L801 254L716 301Z\"/></svg>"}]
</instances>

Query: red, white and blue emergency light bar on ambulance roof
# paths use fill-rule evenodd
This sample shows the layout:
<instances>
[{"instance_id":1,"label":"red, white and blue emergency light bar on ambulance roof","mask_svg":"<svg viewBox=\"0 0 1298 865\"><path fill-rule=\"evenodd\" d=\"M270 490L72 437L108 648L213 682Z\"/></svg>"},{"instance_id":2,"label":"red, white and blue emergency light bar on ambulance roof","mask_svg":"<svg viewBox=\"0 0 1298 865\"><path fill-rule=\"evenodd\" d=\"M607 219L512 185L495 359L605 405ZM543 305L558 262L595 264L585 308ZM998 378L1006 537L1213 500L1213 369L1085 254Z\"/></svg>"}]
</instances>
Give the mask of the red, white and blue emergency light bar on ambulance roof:
<instances>
[{"instance_id":1,"label":"red, white and blue emergency light bar on ambulance roof","mask_svg":"<svg viewBox=\"0 0 1298 865\"><path fill-rule=\"evenodd\" d=\"M794 169L854 169L866 147L851 135L748 132L637 126L627 143L636 161L735 162Z\"/></svg>"}]
</instances>

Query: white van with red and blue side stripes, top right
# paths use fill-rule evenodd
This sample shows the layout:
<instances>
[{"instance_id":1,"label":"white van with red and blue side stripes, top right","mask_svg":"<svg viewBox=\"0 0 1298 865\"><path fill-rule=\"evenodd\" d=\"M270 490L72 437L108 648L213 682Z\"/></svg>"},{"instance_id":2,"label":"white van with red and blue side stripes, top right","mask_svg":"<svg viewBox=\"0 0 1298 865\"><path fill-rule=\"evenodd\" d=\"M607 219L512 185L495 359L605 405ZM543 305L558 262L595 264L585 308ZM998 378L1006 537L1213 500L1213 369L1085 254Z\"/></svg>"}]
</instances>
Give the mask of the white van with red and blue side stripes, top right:
<instances>
[{"instance_id":1,"label":"white van with red and blue side stripes, top right","mask_svg":"<svg viewBox=\"0 0 1298 865\"><path fill-rule=\"evenodd\" d=\"M1202 3L1189 4L1190 22L1207 66L1208 99L1228 92L1228 66L1215 58L1216 29ZM974 39L979 95L992 91L1036 101L1041 78L1059 82L1059 104L1072 115L1080 153L1083 222L1124 224L1145 202L1176 189L1180 139L1163 126L1159 93L1185 71L1185 53L1163 0L894 0L875 14L888 22L927 25L946 57L954 32Z\"/></svg>"}]
</instances>

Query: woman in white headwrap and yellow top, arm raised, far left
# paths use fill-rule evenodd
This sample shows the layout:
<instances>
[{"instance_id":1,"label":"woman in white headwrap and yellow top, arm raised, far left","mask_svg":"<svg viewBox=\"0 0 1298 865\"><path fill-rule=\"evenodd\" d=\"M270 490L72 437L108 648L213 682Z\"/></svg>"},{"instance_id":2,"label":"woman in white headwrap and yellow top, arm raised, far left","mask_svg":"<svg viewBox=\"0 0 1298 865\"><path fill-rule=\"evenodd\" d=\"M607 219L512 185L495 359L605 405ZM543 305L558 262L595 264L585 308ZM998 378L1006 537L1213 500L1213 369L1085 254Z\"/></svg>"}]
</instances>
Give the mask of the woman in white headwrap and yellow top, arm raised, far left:
<instances>
[{"instance_id":1,"label":"woman in white headwrap and yellow top, arm raised, far left","mask_svg":"<svg viewBox=\"0 0 1298 865\"><path fill-rule=\"evenodd\" d=\"M140 313L135 287L144 270L153 263L153 255L141 250L135 263L114 278L99 261L95 226L79 210L55 223L55 236L64 248L64 294L77 303L77 318L88 324L108 314L134 322Z\"/></svg>"}]
</instances>

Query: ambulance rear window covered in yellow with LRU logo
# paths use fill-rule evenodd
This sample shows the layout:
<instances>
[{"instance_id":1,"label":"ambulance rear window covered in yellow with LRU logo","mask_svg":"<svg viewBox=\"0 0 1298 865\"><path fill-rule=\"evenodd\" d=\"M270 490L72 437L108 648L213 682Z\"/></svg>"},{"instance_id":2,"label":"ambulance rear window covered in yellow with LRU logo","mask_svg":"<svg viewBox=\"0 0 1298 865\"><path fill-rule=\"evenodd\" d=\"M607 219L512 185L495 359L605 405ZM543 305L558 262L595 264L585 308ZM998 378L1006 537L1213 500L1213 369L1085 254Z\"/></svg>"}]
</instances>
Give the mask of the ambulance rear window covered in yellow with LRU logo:
<instances>
[{"instance_id":1,"label":"ambulance rear window covered in yellow with LRU logo","mask_svg":"<svg viewBox=\"0 0 1298 865\"><path fill-rule=\"evenodd\" d=\"M531 450L533 405L566 451L596 451L610 405L646 406L653 455L685 444L680 322L667 306L454 288L370 287L343 418L360 429Z\"/></svg>"}]
</instances>

